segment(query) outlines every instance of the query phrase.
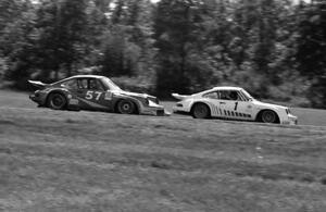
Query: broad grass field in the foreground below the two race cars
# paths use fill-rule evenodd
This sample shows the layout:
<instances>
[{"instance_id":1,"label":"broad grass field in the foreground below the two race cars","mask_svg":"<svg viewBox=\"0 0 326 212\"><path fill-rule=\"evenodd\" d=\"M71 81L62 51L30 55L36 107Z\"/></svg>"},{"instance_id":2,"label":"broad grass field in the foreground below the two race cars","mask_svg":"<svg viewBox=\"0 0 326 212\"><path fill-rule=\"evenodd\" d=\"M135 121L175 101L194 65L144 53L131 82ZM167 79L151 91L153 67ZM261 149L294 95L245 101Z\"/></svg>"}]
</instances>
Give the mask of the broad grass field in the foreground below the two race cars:
<instances>
[{"instance_id":1,"label":"broad grass field in the foreground below the two race cars","mask_svg":"<svg viewBox=\"0 0 326 212\"><path fill-rule=\"evenodd\" d=\"M53 111L0 91L0 211L324 212L325 112L293 111L305 125Z\"/></svg>"}]
</instances>

